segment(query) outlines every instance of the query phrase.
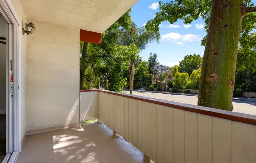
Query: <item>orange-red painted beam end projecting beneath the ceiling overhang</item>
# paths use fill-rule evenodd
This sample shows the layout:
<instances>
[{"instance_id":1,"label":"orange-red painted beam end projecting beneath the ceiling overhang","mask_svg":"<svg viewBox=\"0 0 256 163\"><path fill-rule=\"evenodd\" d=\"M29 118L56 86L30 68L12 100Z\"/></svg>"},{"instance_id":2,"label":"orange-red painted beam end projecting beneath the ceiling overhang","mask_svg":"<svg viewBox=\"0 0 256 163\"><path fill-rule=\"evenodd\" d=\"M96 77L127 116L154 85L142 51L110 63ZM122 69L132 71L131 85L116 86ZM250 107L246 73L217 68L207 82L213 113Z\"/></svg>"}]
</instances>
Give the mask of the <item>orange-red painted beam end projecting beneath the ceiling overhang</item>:
<instances>
[{"instance_id":1,"label":"orange-red painted beam end projecting beneath the ceiling overhang","mask_svg":"<svg viewBox=\"0 0 256 163\"><path fill-rule=\"evenodd\" d=\"M80 29L80 41L101 44L101 33Z\"/></svg>"}]
</instances>

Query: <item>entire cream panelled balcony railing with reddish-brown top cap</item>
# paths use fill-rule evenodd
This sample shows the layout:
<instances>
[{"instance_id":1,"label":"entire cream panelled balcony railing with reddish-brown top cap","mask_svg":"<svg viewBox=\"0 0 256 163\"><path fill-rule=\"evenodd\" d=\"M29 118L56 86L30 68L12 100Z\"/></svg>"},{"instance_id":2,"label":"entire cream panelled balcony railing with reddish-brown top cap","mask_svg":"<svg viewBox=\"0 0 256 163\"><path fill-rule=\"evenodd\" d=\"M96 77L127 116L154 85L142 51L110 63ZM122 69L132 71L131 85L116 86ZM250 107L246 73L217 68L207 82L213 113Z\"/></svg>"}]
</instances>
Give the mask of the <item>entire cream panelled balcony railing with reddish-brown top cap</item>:
<instances>
[{"instance_id":1,"label":"entire cream panelled balcony railing with reddish-brown top cap","mask_svg":"<svg viewBox=\"0 0 256 163\"><path fill-rule=\"evenodd\" d=\"M156 163L255 163L256 116L105 90L80 91L80 121L108 125Z\"/></svg>"}]
</instances>

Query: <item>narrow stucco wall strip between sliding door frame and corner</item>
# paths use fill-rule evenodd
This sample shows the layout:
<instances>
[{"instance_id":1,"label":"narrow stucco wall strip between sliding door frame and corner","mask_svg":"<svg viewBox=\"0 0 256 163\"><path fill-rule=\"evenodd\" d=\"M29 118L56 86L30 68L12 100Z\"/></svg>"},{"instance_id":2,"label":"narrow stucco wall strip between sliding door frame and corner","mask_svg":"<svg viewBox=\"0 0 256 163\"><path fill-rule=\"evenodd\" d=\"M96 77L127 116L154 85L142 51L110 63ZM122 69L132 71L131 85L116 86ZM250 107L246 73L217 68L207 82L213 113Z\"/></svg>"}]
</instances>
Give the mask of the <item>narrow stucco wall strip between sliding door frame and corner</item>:
<instances>
[{"instance_id":1,"label":"narrow stucco wall strip between sliding door frame and corner","mask_svg":"<svg viewBox=\"0 0 256 163\"><path fill-rule=\"evenodd\" d=\"M11 0L11 3L20 19L21 24L27 22L26 14L20 0ZM22 35L22 26L20 26L20 42L21 42L21 56L20 56L20 140L26 134L26 68L27 68L27 35ZM20 142L21 143L21 142Z\"/></svg>"}]
</instances>

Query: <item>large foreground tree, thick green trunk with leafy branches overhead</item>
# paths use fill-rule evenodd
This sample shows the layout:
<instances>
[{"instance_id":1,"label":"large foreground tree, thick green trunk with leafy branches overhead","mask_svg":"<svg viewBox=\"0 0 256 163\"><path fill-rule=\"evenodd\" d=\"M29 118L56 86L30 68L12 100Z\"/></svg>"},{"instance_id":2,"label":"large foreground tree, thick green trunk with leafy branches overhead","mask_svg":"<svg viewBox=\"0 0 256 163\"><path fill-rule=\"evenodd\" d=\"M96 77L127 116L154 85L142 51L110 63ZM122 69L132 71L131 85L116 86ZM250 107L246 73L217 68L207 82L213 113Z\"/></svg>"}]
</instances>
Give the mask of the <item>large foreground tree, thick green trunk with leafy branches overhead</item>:
<instances>
[{"instance_id":1,"label":"large foreground tree, thick green trunk with leafy branches overhead","mask_svg":"<svg viewBox=\"0 0 256 163\"><path fill-rule=\"evenodd\" d=\"M160 11L146 24L146 29L158 31L163 21L171 24L183 19L191 23L205 19L207 37L199 86L198 105L232 110L238 43L242 20L255 12L251 0L179 0L159 2ZM253 18L255 19L255 17ZM232 38L232 39L231 39Z\"/></svg>"}]
</instances>

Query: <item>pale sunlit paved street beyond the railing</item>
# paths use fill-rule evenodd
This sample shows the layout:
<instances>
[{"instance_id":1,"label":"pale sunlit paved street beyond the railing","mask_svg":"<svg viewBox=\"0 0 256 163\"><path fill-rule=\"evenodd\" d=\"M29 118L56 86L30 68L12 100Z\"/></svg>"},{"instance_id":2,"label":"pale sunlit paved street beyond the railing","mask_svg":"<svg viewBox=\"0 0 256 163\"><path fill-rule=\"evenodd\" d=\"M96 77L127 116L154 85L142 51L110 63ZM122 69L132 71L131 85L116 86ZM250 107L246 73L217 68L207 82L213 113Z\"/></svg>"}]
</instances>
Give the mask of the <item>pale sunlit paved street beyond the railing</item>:
<instances>
[{"instance_id":1,"label":"pale sunlit paved street beyond the railing","mask_svg":"<svg viewBox=\"0 0 256 163\"><path fill-rule=\"evenodd\" d=\"M129 93L129 91L124 91ZM155 93L155 92L144 92L139 93L133 91L134 95L157 98L161 100L175 101L180 103L188 103L197 105L197 95L185 95L185 94L171 94L171 93ZM255 98L234 98L233 99L233 112L241 112L245 114L256 115L256 99Z\"/></svg>"}]
</instances>

